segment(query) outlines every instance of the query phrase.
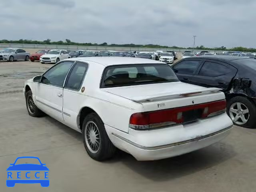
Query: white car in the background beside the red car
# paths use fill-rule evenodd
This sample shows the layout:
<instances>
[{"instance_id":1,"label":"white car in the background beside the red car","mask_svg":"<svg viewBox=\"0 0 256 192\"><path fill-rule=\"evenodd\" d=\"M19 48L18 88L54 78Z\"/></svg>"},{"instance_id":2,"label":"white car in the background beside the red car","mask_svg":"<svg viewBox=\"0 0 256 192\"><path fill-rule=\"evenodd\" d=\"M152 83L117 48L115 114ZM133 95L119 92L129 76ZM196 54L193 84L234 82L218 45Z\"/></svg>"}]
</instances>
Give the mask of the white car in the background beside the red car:
<instances>
[{"instance_id":1,"label":"white car in the background beside the red car","mask_svg":"<svg viewBox=\"0 0 256 192\"><path fill-rule=\"evenodd\" d=\"M47 54L40 56L39 60L43 63L58 63L63 59L70 58L70 54L66 50L50 50Z\"/></svg>"}]
</instances>

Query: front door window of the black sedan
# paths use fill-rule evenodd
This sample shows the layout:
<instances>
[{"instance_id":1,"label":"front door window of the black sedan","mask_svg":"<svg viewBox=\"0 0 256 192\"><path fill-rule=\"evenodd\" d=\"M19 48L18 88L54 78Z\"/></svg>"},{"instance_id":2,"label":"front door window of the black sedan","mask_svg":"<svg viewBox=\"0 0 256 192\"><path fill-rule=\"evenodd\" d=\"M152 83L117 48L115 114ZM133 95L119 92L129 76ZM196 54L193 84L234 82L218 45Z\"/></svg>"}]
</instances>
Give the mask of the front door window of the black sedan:
<instances>
[{"instance_id":1,"label":"front door window of the black sedan","mask_svg":"<svg viewBox=\"0 0 256 192\"><path fill-rule=\"evenodd\" d=\"M198 68L199 64L200 64L200 61L186 60L174 66L173 69L176 73L179 73L179 74L192 75L194 74L194 72L196 72L196 69Z\"/></svg>"}]
</instances>

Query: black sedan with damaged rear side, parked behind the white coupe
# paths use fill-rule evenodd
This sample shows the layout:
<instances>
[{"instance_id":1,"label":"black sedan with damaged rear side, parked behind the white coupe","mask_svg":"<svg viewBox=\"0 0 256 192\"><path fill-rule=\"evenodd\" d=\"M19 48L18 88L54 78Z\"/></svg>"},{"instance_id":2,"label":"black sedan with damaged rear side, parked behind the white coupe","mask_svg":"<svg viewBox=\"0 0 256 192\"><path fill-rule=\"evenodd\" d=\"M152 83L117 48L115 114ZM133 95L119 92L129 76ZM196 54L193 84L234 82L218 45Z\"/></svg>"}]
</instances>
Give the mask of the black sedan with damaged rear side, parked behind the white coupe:
<instances>
[{"instance_id":1,"label":"black sedan with damaged rear side, parked behind the white coupe","mask_svg":"<svg viewBox=\"0 0 256 192\"><path fill-rule=\"evenodd\" d=\"M172 66L178 78L189 84L221 88L227 113L238 126L256 125L256 60L234 56L185 58Z\"/></svg>"}]
</instances>

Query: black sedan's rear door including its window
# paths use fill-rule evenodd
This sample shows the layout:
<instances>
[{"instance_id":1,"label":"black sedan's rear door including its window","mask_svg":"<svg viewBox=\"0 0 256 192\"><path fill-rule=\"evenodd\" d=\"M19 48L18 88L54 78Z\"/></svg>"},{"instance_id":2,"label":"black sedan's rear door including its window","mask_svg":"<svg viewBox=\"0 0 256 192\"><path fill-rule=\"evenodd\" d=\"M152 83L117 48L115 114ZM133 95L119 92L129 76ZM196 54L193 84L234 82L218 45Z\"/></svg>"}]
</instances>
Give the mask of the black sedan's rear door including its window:
<instances>
[{"instance_id":1,"label":"black sedan's rear door including its window","mask_svg":"<svg viewBox=\"0 0 256 192\"><path fill-rule=\"evenodd\" d=\"M225 92L236 72L237 69L230 64L205 60L197 74L190 79L190 83L204 87L222 88Z\"/></svg>"}]
</instances>

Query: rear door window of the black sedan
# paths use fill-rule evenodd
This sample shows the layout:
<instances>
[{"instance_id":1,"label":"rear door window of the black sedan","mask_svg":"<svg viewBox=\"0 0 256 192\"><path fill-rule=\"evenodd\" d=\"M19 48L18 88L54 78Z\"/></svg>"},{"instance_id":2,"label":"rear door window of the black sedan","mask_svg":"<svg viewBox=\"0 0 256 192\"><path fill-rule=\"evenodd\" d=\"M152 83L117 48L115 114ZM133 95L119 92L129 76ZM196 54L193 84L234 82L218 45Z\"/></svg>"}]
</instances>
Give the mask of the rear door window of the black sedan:
<instances>
[{"instance_id":1,"label":"rear door window of the black sedan","mask_svg":"<svg viewBox=\"0 0 256 192\"><path fill-rule=\"evenodd\" d=\"M206 61L202 66L198 75L208 76L208 77L217 77L224 74L228 74L230 72L231 70L222 64Z\"/></svg>"}]
</instances>

